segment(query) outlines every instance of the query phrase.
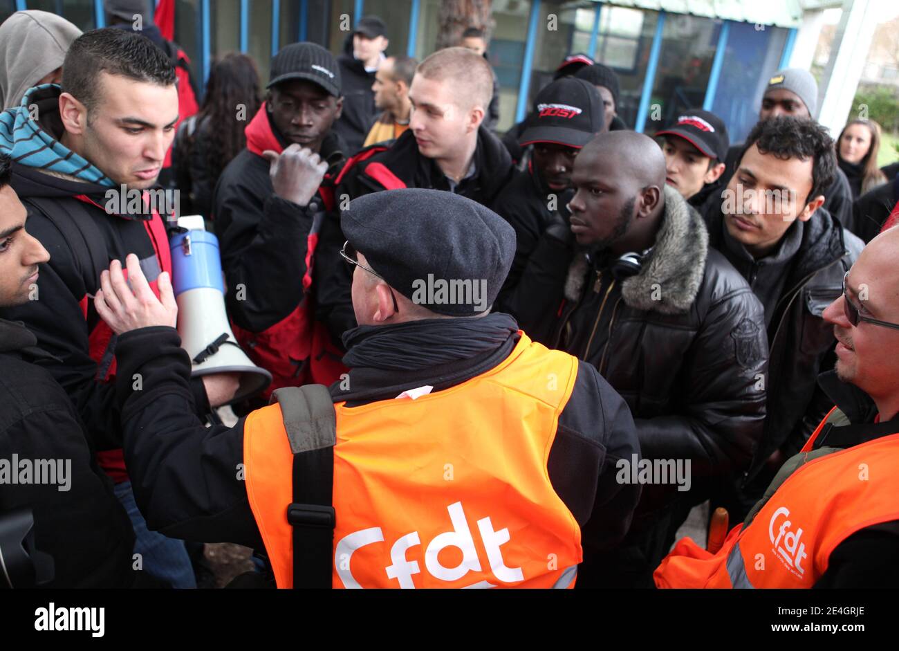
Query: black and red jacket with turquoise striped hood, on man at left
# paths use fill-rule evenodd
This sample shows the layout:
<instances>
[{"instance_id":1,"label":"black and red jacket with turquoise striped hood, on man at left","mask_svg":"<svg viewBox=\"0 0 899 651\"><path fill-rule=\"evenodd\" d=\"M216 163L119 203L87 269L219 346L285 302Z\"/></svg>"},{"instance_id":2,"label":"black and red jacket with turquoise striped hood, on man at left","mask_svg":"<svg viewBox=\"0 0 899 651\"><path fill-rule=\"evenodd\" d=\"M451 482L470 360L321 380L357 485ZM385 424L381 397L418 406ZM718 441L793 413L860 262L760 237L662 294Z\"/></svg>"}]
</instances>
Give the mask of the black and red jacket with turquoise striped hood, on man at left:
<instances>
[{"instance_id":1,"label":"black and red jacket with turquoise striped hood, on man at left","mask_svg":"<svg viewBox=\"0 0 899 651\"><path fill-rule=\"evenodd\" d=\"M28 231L49 251L38 280L38 300L0 310L22 321L40 347L58 358L48 365L85 421L101 467L125 481L120 449L120 414L109 381L116 374L117 337L93 308L100 272L112 260L137 254L150 287L171 272L165 221L152 215L120 214L107 198L117 188L109 177L65 147L57 85L32 88L14 111L0 113L0 151L13 157L13 190L29 211ZM38 107L31 120L28 107ZM191 381L198 416L209 409L202 381Z\"/></svg>"}]
</instances>

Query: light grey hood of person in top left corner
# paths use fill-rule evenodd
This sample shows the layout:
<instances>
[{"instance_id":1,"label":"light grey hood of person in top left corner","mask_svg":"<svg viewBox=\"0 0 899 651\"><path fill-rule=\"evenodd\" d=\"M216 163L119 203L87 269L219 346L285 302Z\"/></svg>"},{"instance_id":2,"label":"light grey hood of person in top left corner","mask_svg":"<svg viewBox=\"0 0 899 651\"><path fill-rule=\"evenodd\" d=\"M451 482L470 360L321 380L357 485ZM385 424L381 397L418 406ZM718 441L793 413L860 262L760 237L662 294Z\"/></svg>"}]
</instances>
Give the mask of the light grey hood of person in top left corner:
<instances>
[{"instance_id":1,"label":"light grey hood of person in top left corner","mask_svg":"<svg viewBox=\"0 0 899 651\"><path fill-rule=\"evenodd\" d=\"M68 47L81 36L55 13L13 13L0 25L0 104L18 106L31 86L62 67Z\"/></svg>"}]
</instances>

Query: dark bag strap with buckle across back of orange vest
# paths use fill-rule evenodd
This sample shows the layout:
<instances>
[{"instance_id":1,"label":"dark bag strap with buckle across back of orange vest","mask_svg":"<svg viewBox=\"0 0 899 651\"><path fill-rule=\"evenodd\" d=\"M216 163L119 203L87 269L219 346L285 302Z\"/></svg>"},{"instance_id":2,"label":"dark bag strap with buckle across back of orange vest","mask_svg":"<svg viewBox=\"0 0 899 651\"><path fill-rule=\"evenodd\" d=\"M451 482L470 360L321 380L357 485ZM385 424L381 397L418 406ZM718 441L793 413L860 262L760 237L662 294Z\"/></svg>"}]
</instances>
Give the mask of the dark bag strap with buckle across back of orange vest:
<instances>
[{"instance_id":1,"label":"dark bag strap with buckle across back of orange vest","mask_svg":"<svg viewBox=\"0 0 899 651\"><path fill-rule=\"evenodd\" d=\"M337 415L321 384L277 389L277 400L293 452L293 587L330 588L334 548L334 444Z\"/></svg>"}]
</instances>

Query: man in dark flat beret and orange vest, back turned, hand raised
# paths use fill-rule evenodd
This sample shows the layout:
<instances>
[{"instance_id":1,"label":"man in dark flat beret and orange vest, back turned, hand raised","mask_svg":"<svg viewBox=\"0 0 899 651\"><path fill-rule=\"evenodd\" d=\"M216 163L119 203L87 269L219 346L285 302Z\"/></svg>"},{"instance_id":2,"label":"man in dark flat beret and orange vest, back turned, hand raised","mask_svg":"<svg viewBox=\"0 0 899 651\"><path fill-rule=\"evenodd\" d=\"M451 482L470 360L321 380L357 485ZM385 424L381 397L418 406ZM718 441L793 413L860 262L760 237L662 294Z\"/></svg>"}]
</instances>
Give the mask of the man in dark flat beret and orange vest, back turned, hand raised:
<instances>
[{"instance_id":1,"label":"man in dark flat beret and orange vest, back turned, hand raised","mask_svg":"<svg viewBox=\"0 0 899 651\"><path fill-rule=\"evenodd\" d=\"M378 192L342 226L360 323L343 337L349 374L280 389L230 429L192 415L174 299L145 289L136 260L133 292L111 270L115 296L97 305L120 334L148 525L264 551L279 587L572 586L640 495L619 479L639 457L628 406L590 364L491 313L515 251L493 211Z\"/></svg>"}]
</instances>

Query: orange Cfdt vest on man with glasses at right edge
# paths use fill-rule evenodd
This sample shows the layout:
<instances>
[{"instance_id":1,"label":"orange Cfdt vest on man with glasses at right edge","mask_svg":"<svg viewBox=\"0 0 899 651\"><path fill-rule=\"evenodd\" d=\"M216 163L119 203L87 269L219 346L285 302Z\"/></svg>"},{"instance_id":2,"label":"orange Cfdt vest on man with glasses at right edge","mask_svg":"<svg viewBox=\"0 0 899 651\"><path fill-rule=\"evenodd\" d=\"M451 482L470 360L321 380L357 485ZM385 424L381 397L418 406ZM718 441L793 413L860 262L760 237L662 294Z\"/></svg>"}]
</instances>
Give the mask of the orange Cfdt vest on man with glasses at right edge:
<instances>
[{"instance_id":1,"label":"orange Cfdt vest on man with glasses at right edge","mask_svg":"<svg viewBox=\"0 0 899 651\"><path fill-rule=\"evenodd\" d=\"M834 415L831 410L802 453ZM655 569L660 588L810 588L853 533L899 520L899 433L812 459L771 495L748 526L712 555L683 539Z\"/></svg>"}]
</instances>

